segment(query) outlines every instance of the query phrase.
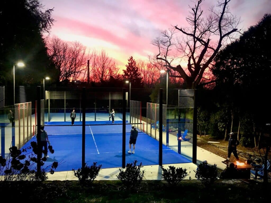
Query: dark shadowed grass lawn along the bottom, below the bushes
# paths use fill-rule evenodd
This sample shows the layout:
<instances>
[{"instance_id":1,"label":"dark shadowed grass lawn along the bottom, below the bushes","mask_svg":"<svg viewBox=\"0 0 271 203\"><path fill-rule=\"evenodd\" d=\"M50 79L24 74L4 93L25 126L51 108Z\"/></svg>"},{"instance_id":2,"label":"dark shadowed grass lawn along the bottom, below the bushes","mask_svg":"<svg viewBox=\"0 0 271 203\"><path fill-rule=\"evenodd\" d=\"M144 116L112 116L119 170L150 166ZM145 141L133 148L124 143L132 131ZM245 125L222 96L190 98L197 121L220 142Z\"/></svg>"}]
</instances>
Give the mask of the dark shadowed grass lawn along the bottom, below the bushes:
<instances>
[{"instance_id":1,"label":"dark shadowed grass lawn along the bottom, below the bushes","mask_svg":"<svg viewBox=\"0 0 271 203\"><path fill-rule=\"evenodd\" d=\"M176 187L165 181L143 181L138 191L124 189L120 181L94 181L86 187L78 181L0 183L2 200L6 196L12 202L269 202L270 189L270 183L230 184L222 180L211 188L198 180L183 180Z\"/></svg>"}]
</instances>

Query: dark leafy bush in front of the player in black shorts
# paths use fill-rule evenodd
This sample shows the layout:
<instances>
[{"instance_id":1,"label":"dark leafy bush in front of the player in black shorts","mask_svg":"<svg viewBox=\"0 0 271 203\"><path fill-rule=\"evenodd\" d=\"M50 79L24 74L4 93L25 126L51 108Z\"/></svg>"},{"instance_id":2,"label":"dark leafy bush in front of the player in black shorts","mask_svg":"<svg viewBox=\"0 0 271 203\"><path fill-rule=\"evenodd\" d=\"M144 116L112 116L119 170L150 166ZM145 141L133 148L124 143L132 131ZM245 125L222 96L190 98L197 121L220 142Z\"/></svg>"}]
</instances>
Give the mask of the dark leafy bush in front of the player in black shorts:
<instances>
[{"instance_id":1,"label":"dark leafy bush in front of the player in black shorts","mask_svg":"<svg viewBox=\"0 0 271 203\"><path fill-rule=\"evenodd\" d=\"M144 177L144 170L141 172L142 162L137 166L137 160L132 163L126 164L125 170L120 170L120 173L117 175L117 179L121 180L123 185L128 189L137 190L141 184L141 181Z\"/></svg>"}]
</instances>

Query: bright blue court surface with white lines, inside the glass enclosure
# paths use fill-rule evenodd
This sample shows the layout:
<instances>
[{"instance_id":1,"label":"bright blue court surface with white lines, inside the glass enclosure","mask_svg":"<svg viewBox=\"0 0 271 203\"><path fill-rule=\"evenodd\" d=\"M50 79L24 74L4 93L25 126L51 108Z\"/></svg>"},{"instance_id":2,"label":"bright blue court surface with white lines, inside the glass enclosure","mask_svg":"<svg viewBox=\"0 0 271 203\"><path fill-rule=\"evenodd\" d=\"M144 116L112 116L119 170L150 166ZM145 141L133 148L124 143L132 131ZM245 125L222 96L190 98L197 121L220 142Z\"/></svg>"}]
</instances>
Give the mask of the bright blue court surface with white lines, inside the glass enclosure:
<instances>
[{"instance_id":1,"label":"bright blue court surface with white lines, inside the glass enclosure","mask_svg":"<svg viewBox=\"0 0 271 203\"><path fill-rule=\"evenodd\" d=\"M56 171L71 171L82 166L82 122L75 122L74 126L45 126L49 141L54 149L43 168L52 162L62 162ZM86 122L86 124L111 124L101 126L86 126L85 161L88 165L93 162L102 164L102 168L114 168L122 166L122 125L112 125L109 121ZM120 124L122 121L115 121ZM70 125L70 122L47 122L45 125ZM157 165L159 161L159 142L153 137L139 131L135 154L128 153L131 124L126 125L126 150L125 162L131 163L135 159L143 165ZM30 142L36 141L32 137L23 148L30 146ZM133 145L132 145L133 149ZM191 160L178 154L174 150L163 145L163 164L189 163Z\"/></svg>"}]
</instances>

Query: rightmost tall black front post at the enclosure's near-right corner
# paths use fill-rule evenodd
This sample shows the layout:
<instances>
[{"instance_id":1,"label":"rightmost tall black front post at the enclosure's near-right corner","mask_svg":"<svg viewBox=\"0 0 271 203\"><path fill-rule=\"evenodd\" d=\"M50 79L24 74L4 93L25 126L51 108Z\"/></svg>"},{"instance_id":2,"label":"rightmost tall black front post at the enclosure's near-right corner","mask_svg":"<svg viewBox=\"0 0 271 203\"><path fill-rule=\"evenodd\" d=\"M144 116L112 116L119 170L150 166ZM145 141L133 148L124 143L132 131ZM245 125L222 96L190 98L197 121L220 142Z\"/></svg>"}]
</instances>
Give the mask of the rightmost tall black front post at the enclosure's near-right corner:
<instances>
[{"instance_id":1,"label":"rightmost tall black front post at the enclosure's near-right corner","mask_svg":"<svg viewBox=\"0 0 271 203\"><path fill-rule=\"evenodd\" d=\"M197 90L194 89L194 112L193 112L193 152L192 152L192 162L197 163Z\"/></svg>"}]
</instances>

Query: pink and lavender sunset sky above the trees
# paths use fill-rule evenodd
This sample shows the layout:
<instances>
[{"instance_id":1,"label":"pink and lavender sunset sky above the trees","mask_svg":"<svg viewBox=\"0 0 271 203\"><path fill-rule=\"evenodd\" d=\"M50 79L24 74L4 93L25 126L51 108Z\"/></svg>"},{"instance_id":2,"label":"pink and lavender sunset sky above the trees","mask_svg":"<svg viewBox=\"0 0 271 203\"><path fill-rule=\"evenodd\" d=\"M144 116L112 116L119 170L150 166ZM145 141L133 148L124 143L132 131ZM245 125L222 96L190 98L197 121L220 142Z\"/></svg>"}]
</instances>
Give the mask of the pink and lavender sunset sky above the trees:
<instances>
[{"instance_id":1,"label":"pink and lavender sunset sky above the trees","mask_svg":"<svg viewBox=\"0 0 271 203\"><path fill-rule=\"evenodd\" d=\"M191 0L43 0L44 8L53 8L56 20L50 35L62 40L79 41L91 50L106 50L120 67L128 58L147 60L157 52L150 44L171 25L185 26ZM205 0L202 9L216 0ZM232 14L241 17L238 29L246 30L271 13L270 0L232 0Z\"/></svg>"}]
</instances>

